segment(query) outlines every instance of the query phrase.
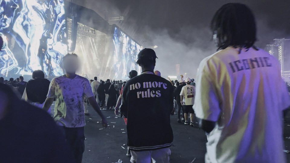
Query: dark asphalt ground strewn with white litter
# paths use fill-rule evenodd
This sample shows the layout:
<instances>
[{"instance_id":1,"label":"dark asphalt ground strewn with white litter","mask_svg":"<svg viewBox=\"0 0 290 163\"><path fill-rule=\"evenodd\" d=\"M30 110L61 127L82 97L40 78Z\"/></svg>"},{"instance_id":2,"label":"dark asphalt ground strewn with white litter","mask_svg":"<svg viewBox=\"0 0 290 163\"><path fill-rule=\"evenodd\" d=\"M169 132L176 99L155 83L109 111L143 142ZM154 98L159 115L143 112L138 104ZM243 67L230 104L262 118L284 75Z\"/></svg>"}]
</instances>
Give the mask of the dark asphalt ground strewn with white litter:
<instances>
[{"instance_id":1,"label":"dark asphalt ground strewn with white litter","mask_svg":"<svg viewBox=\"0 0 290 163\"><path fill-rule=\"evenodd\" d=\"M127 134L123 118L115 118L114 110L102 110L107 118L108 126L102 129L101 118L91 108L88 107L90 115L85 116L85 152L83 154L83 163L115 163L119 159L123 163L130 163L127 153ZM286 119L284 125L285 149L290 151L290 118ZM288 126L289 125L289 126ZM176 122L176 115L171 116L171 126L174 134L173 146L171 149L171 163L189 163L194 158L194 163L204 162L206 152L206 136L202 130ZM186 129L185 129L186 128ZM101 130L99 130L101 129ZM124 129L124 130L122 130ZM125 148L123 149L122 146ZM285 153L286 154L286 153ZM287 162L290 162L290 153L287 155Z\"/></svg>"}]
</instances>

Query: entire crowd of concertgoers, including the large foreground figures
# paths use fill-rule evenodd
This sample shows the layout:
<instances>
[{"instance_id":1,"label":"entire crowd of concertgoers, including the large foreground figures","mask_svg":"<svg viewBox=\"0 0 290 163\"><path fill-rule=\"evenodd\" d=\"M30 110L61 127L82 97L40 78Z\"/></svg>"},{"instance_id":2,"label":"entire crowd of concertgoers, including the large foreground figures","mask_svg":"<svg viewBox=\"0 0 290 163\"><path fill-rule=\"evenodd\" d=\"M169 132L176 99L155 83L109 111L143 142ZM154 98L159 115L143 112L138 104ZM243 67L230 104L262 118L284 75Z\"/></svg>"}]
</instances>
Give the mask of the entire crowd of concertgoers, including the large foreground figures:
<instances>
[{"instance_id":1,"label":"entire crowd of concertgoers, including the large foreground figures","mask_svg":"<svg viewBox=\"0 0 290 163\"><path fill-rule=\"evenodd\" d=\"M81 163L89 115L85 103L104 128L108 122L101 110L114 108L124 117L132 163L169 162L170 116L175 112L178 123L206 132L207 163L286 162L282 115L290 98L277 59L254 46L252 11L240 3L223 5L211 30L218 52L201 61L195 80L162 78L154 71L156 53L147 48L137 56L142 73L132 70L126 82L77 75L74 53L63 57L66 73L51 81L41 70L28 82L23 76L9 81L1 77L0 162ZM52 119L47 112L54 101Z\"/></svg>"}]
</instances>

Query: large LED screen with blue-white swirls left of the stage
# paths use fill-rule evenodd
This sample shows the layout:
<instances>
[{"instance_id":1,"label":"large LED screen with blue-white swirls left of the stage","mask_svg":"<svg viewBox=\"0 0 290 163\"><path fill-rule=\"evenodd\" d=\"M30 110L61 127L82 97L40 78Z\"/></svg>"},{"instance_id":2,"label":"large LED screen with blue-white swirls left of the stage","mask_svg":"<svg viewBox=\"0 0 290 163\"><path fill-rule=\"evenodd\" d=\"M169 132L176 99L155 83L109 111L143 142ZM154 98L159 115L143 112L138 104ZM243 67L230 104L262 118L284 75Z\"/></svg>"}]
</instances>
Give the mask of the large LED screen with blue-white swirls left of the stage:
<instances>
[{"instance_id":1,"label":"large LED screen with blue-white swirls left of the stage","mask_svg":"<svg viewBox=\"0 0 290 163\"><path fill-rule=\"evenodd\" d=\"M62 75L65 28L63 0L0 0L0 75Z\"/></svg>"}]
</instances>

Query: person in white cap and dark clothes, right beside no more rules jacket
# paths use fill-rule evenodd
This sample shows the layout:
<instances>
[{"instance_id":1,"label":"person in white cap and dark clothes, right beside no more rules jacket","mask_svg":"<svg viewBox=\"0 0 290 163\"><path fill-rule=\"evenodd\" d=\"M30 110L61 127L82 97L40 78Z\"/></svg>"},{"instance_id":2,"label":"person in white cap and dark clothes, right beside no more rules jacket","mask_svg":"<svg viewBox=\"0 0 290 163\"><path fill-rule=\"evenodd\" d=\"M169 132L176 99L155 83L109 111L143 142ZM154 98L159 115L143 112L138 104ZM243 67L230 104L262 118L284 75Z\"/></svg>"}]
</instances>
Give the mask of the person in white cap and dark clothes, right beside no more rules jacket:
<instances>
[{"instance_id":1,"label":"person in white cap and dark clothes, right beside no more rules jacket","mask_svg":"<svg viewBox=\"0 0 290 163\"><path fill-rule=\"evenodd\" d=\"M182 87L184 86L183 85L183 82L184 80L180 79L178 84L176 83L176 88L174 90L174 99L176 100L176 105L177 105L177 122L180 123L180 122L185 122L185 118L184 118L184 109L181 105L181 101L180 101L180 92L182 90ZM182 119L180 120L180 111L182 110Z\"/></svg>"}]
</instances>

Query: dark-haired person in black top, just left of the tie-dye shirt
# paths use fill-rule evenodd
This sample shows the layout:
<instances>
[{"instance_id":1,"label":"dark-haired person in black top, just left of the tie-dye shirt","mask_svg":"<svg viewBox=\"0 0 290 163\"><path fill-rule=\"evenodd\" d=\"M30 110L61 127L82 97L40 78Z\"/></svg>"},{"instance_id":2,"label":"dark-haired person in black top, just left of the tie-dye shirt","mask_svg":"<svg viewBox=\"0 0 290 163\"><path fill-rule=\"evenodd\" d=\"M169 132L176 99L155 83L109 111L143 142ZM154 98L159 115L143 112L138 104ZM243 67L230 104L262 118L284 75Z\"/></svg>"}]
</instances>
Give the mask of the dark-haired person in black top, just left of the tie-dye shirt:
<instances>
[{"instance_id":1,"label":"dark-haired person in black top, just left of the tie-dye shirt","mask_svg":"<svg viewBox=\"0 0 290 163\"><path fill-rule=\"evenodd\" d=\"M44 78L42 70L32 72L33 80L27 82L22 99L30 102L39 108L43 107L46 95L48 93L50 81ZM50 113L50 109L47 111Z\"/></svg>"}]
</instances>

